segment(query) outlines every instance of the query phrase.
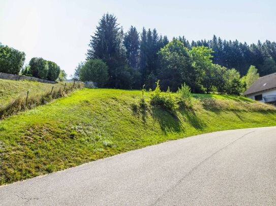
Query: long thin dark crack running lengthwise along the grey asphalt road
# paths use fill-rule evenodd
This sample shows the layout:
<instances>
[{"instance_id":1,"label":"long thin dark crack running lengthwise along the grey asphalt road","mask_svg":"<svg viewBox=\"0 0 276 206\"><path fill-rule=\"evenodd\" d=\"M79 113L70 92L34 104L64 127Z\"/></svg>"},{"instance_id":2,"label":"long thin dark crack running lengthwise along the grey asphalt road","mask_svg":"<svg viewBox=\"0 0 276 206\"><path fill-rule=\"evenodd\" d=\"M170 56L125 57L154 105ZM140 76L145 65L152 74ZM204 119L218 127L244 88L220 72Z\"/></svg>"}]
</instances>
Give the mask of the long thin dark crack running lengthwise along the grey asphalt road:
<instances>
[{"instance_id":1,"label":"long thin dark crack running lengthwise along the grey asphalt road","mask_svg":"<svg viewBox=\"0 0 276 206\"><path fill-rule=\"evenodd\" d=\"M170 188L168 188L165 192L163 192L162 195L160 195L156 201L150 205L156 205L160 200L161 198L164 196L164 194L168 193L169 191L173 190L177 185L179 185L186 177L190 176L194 171L196 171L205 161L209 160L211 157L213 157L214 155L216 155L217 153L219 153L220 151L222 151L223 149L227 148L228 146L234 144L236 141L240 140L241 138L251 134L255 132L254 131L251 131L247 134L244 134L242 135L241 137L237 138L236 140L234 140L233 142L230 142L229 144L227 144L226 146L222 147L221 149L219 149L218 151L212 153L210 156L206 157L205 159L203 159L201 162L199 162L194 168L192 168L192 170L189 171L189 173L187 173L186 175L184 175L182 178L180 178L174 185L172 185Z\"/></svg>"}]
</instances>

